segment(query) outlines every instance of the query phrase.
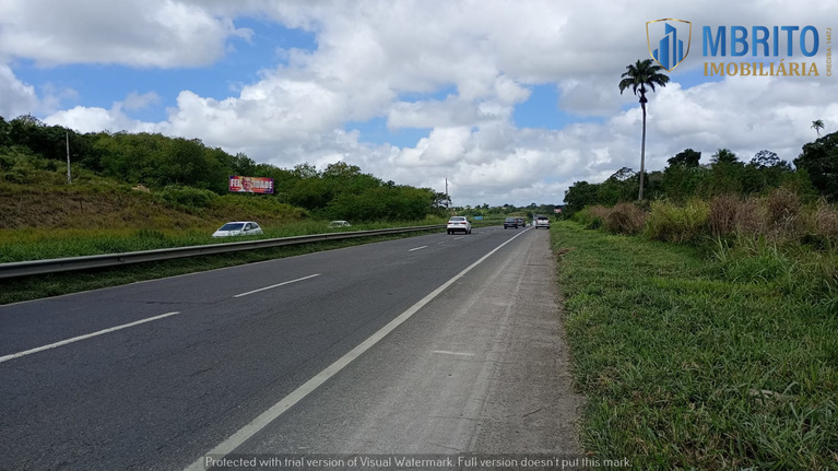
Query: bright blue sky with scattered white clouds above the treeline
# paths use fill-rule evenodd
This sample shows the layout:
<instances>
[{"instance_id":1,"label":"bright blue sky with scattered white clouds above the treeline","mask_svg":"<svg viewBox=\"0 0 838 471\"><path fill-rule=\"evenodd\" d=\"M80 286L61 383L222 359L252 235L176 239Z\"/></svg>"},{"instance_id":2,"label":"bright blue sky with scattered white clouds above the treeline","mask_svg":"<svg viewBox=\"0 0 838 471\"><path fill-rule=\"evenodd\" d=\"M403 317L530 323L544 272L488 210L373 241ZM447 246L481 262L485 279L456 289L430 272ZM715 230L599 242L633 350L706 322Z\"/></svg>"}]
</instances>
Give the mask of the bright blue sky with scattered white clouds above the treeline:
<instances>
[{"instance_id":1,"label":"bright blue sky with scattered white clouds above the treeline","mask_svg":"<svg viewBox=\"0 0 838 471\"><path fill-rule=\"evenodd\" d=\"M693 44L650 95L648 168L686 148L791 161L813 120L838 127L825 44L806 59L816 78L705 76L700 55L701 25L823 33L838 25L828 2L62 5L0 3L0 116L201 139L281 167L346 161L435 189L448 178L456 204L557 203L575 181L638 167L637 97L617 82L649 57L646 22L661 17L692 21Z\"/></svg>"}]
</instances>

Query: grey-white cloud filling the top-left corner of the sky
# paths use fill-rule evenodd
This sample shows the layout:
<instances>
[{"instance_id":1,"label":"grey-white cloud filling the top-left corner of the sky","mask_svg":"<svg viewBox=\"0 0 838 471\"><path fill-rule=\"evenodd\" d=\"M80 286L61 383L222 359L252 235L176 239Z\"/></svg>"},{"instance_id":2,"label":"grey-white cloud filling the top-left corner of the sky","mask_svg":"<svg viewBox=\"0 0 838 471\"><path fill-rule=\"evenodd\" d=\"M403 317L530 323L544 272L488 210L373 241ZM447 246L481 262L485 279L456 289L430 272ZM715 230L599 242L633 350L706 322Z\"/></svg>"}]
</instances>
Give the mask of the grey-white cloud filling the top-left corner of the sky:
<instances>
[{"instance_id":1,"label":"grey-white cloud filling the top-left corner of the sky","mask_svg":"<svg viewBox=\"0 0 838 471\"><path fill-rule=\"evenodd\" d=\"M227 38L249 35L229 20L174 0L0 2L0 57L42 66L204 66L223 56Z\"/></svg>"}]
</instances>

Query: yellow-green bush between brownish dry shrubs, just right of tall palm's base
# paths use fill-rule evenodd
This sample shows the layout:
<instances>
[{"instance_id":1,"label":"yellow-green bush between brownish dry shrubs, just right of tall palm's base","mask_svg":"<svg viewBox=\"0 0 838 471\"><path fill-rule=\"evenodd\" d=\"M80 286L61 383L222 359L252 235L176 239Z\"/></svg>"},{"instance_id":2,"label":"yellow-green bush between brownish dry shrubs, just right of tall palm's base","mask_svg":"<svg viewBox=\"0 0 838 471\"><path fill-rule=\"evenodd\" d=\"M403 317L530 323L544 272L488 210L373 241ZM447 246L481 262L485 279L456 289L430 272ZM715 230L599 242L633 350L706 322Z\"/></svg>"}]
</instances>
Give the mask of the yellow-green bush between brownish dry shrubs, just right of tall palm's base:
<instances>
[{"instance_id":1,"label":"yellow-green bush between brownish dry shrubs, just right of tall palm's base","mask_svg":"<svg viewBox=\"0 0 838 471\"><path fill-rule=\"evenodd\" d=\"M654 201L647 219L645 234L656 240L683 243L696 240L709 231L710 207L701 200L684 205Z\"/></svg>"}]
</instances>

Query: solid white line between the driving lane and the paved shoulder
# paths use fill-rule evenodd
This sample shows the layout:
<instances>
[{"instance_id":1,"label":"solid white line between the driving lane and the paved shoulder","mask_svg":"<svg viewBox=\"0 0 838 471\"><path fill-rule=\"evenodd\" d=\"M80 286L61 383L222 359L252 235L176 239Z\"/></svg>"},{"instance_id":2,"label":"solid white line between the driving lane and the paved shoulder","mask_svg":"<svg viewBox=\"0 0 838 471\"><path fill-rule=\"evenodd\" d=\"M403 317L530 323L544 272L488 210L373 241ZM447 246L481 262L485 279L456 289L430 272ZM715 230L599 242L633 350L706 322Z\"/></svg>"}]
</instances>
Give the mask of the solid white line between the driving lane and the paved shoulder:
<instances>
[{"instance_id":1,"label":"solid white line between the driving lane and the paved shoulder","mask_svg":"<svg viewBox=\"0 0 838 471\"><path fill-rule=\"evenodd\" d=\"M247 439L258 434L262 428L268 426L268 424L273 422L276 417L282 415L285 411L291 409L294 404L303 400L303 398L311 393L315 389L320 387L329 378L338 374L338 372L343 369L346 365L352 363L355 358L361 356L364 352L369 350L373 345L378 343L381 339L387 337L387 334L396 330L396 328L401 326L405 320L410 319L411 316L416 314L426 304L430 303L435 297L437 297L440 293L442 293L448 286L452 285L457 280L462 278L465 273L470 272L474 267L482 263L484 260L489 258L496 251L500 250L500 248L504 247L505 245L515 240L521 234L523 233L522 232L518 233L515 235L515 237L495 247L492 251L481 257L480 260L470 264L463 271L456 274L452 279L448 280L442 285L432 291L427 296L423 297L422 299L420 299L420 302L417 302L416 304L408 308L408 310L400 314L396 319L391 320L387 326L382 327L379 331L374 333L369 339L365 340L358 346L352 349L349 353L338 358L337 362L332 363L326 369L318 373L317 376L309 379L303 386L292 391L288 396L284 397L280 402L273 404L267 411L262 412L258 417L253 419L252 422L241 427L235 434L231 435L229 438L222 441L219 446L216 446L212 450L204 454L196 462L193 462L188 468L186 468L186 471L203 471L205 469L204 463L208 457L212 456L213 460L220 460L223 457L226 457L227 455L233 452L233 450L238 448Z\"/></svg>"}]
</instances>

